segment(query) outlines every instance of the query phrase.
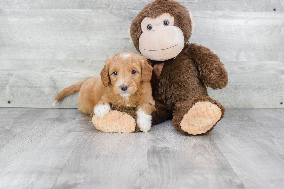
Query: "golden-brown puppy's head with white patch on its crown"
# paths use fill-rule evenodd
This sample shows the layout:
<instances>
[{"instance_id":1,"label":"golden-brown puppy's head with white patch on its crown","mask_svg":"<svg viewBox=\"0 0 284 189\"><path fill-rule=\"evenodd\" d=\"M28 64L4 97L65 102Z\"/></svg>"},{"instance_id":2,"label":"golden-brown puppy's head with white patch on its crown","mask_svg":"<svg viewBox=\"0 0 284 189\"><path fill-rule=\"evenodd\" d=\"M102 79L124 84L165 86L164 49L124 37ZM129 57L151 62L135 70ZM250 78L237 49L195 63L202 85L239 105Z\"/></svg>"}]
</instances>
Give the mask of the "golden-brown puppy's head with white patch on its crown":
<instances>
[{"instance_id":1,"label":"golden-brown puppy's head with white patch on its crown","mask_svg":"<svg viewBox=\"0 0 284 189\"><path fill-rule=\"evenodd\" d=\"M150 82L152 70L144 56L124 51L107 58L101 81L105 87L112 87L115 94L128 97L136 93L141 83Z\"/></svg>"}]
</instances>

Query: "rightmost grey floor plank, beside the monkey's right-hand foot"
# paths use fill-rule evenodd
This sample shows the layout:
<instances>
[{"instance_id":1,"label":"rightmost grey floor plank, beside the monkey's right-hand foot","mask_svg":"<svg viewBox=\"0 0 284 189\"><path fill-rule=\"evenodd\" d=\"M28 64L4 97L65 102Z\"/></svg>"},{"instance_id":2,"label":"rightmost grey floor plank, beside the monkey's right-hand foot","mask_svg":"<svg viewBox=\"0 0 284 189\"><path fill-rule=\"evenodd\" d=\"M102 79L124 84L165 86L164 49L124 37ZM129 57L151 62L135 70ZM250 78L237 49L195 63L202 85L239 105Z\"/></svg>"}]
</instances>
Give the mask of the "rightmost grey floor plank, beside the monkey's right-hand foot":
<instances>
[{"instance_id":1,"label":"rightmost grey floor plank, beside the monkey's right-hand foot","mask_svg":"<svg viewBox=\"0 0 284 189\"><path fill-rule=\"evenodd\" d=\"M227 110L210 133L245 188L283 188L283 115L282 109Z\"/></svg>"}]
</instances>

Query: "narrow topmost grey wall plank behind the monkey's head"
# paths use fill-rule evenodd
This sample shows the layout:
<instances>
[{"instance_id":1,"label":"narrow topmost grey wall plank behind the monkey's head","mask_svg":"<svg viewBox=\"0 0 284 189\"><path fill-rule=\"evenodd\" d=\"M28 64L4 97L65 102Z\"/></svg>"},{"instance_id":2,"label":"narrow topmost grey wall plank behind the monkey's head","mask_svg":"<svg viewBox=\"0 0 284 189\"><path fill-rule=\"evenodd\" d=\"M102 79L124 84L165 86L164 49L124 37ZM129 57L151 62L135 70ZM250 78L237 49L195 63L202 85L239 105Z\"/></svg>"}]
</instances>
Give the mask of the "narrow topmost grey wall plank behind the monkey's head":
<instances>
[{"instance_id":1,"label":"narrow topmost grey wall plank behind the monkey's head","mask_svg":"<svg viewBox=\"0 0 284 189\"><path fill-rule=\"evenodd\" d=\"M187 1L177 0L188 10L210 10L210 11L255 11L255 12L284 12L283 0L204 0ZM2 0L0 7L6 9L128 9L141 10L151 0Z\"/></svg>"}]
</instances>

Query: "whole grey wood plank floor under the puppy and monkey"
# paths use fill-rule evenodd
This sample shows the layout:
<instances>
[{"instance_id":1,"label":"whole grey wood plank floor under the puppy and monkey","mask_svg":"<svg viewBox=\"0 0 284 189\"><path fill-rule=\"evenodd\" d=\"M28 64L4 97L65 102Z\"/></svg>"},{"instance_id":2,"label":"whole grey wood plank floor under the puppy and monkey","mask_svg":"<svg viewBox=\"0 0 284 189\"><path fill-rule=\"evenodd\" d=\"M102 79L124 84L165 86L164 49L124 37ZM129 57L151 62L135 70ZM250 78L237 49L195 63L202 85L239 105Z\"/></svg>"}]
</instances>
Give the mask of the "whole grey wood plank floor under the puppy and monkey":
<instances>
[{"instance_id":1,"label":"whole grey wood plank floor under the puppy and monkey","mask_svg":"<svg viewBox=\"0 0 284 189\"><path fill-rule=\"evenodd\" d=\"M228 109L207 135L171 121L103 133L77 109L0 109L0 188L283 188L284 109Z\"/></svg>"}]
</instances>

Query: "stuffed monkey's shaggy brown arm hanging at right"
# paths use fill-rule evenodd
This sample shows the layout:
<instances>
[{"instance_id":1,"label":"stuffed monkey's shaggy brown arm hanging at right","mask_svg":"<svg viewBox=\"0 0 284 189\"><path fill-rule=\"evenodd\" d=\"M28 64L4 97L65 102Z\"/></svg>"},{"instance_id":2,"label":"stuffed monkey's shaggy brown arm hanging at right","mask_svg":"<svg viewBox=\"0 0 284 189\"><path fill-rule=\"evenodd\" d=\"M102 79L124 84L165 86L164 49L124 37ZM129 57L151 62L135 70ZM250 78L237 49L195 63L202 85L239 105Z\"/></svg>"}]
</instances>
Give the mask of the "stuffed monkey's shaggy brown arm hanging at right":
<instances>
[{"instance_id":1,"label":"stuffed monkey's shaggy brown arm hanging at right","mask_svg":"<svg viewBox=\"0 0 284 189\"><path fill-rule=\"evenodd\" d=\"M222 89L227 86L227 71L216 54L206 47L193 43L187 44L185 49L198 68L200 77L206 87Z\"/></svg>"}]
</instances>

